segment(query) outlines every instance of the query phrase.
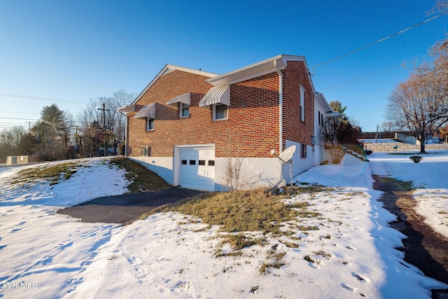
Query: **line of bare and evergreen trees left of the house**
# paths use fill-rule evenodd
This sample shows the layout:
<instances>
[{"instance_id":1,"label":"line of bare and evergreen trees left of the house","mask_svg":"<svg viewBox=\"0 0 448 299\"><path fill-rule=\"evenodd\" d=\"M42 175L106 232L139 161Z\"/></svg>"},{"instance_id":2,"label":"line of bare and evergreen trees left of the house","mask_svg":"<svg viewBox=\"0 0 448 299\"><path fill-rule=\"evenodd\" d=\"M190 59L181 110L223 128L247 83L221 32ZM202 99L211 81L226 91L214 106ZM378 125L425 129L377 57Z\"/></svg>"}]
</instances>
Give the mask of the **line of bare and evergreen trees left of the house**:
<instances>
[{"instance_id":1,"label":"line of bare and evergreen trees left of the house","mask_svg":"<svg viewBox=\"0 0 448 299\"><path fill-rule=\"evenodd\" d=\"M104 144L107 155L116 155L125 139L125 116L117 109L134 97L132 92L118 90L110 97L90 99L76 117L57 104L44 106L31 130L18 126L0 131L0 162L8 155L37 155L41 160L92 158L106 153ZM103 103L105 113L99 110Z\"/></svg>"}]
</instances>

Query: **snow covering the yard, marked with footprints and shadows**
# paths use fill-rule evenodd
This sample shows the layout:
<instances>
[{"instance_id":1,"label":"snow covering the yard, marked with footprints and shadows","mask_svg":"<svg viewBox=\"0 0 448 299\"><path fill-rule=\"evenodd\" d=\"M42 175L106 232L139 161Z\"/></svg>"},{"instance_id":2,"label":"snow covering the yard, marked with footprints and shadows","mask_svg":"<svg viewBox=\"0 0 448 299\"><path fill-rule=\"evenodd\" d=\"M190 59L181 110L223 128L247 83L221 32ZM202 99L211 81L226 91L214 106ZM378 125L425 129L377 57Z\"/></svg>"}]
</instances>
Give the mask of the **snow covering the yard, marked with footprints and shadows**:
<instances>
[{"instance_id":1,"label":"snow covering the yard, marked with footprints and shadows","mask_svg":"<svg viewBox=\"0 0 448 299\"><path fill-rule=\"evenodd\" d=\"M123 170L102 159L86 160L67 181L29 189L10 185L18 167L1 168L0 298L430 298L431 288L448 286L424 277L394 249L403 236L388 227L394 216L377 202L381 193L372 190L371 174L414 181L419 212L443 231L437 219L446 221L448 211L448 153L418 164L386 153L369 159L346 156L341 165L297 176L301 183L335 187L285 199L306 200L321 214L297 220L318 230L287 223L301 238L298 248L270 238L242 256L219 258L218 228L206 229L190 216L153 214L123 227L55 214L125 192ZM285 265L260 273L276 253Z\"/></svg>"}]
</instances>

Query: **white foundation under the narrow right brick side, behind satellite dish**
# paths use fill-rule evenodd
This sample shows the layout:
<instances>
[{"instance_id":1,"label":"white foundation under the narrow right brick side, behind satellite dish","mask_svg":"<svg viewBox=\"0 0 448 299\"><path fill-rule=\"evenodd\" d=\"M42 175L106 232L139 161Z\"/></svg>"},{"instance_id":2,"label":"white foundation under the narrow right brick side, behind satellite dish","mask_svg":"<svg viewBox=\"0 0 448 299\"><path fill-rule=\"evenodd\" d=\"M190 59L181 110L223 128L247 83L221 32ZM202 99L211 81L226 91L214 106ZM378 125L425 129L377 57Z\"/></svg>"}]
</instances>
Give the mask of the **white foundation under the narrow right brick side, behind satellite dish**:
<instances>
[{"instance_id":1,"label":"white foundation under the narrow right brick side, behind satellite dish","mask_svg":"<svg viewBox=\"0 0 448 299\"><path fill-rule=\"evenodd\" d=\"M286 140L286 148L295 146L295 153L293 158L293 178L302 172L307 171L311 167L315 166L314 155L316 154L316 148L314 146L307 145L307 158L300 158L300 146L298 142ZM283 164L283 179L286 184L290 183L290 167L289 163Z\"/></svg>"}]
</instances>

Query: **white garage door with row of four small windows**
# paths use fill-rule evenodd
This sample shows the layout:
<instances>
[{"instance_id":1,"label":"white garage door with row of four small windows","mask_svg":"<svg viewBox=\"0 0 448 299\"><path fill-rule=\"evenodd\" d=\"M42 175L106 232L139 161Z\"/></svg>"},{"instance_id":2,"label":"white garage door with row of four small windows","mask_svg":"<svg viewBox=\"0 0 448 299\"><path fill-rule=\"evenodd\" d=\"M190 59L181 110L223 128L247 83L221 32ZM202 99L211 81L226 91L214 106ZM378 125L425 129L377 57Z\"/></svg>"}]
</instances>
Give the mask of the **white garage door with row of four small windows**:
<instances>
[{"instance_id":1,"label":"white garage door with row of four small windows","mask_svg":"<svg viewBox=\"0 0 448 299\"><path fill-rule=\"evenodd\" d=\"M179 148L179 186L215 190L215 147Z\"/></svg>"}]
</instances>

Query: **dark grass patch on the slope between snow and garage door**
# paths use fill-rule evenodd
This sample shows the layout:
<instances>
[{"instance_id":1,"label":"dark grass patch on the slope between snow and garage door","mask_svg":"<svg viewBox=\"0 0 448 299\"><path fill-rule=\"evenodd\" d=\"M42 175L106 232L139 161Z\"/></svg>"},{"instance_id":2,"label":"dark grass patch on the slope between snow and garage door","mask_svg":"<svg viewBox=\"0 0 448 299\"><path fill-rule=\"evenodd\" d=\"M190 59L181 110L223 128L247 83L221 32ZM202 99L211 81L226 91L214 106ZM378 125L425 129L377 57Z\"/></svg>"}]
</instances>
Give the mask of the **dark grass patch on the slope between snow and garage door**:
<instances>
[{"instance_id":1,"label":"dark grass patch on the slope between snow and garage door","mask_svg":"<svg viewBox=\"0 0 448 299\"><path fill-rule=\"evenodd\" d=\"M157 191L172 187L169 183L164 181L164 179L148 170L139 162L120 157L111 159L110 163L126 169L126 179L132 182L130 186L127 187L129 193Z\"/></svg>"}]
</instances>

